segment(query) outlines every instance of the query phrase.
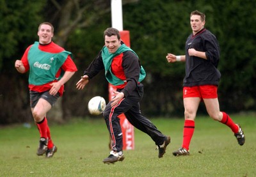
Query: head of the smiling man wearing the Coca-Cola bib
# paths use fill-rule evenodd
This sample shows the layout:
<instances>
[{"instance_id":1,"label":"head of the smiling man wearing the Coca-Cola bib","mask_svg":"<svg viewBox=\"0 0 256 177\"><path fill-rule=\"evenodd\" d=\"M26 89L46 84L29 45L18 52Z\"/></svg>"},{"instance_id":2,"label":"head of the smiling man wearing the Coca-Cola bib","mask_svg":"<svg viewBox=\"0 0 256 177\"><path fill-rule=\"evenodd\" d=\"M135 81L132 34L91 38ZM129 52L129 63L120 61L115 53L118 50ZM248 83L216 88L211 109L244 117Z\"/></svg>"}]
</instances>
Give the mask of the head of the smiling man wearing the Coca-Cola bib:
<instances>
[{"instance_id":1,"label":"head of the smiling man wearing the Coca-Cola bib","mask_svg":"<svg viewBox=\"0 0 256 177\"><path fill-rule=\"evenodd\" d=\"M39 42L42 44L47 44L52 41L52 27L47 24L42 24L39 31L37 32L39 36Z\"/></svg>"}]
</instances>

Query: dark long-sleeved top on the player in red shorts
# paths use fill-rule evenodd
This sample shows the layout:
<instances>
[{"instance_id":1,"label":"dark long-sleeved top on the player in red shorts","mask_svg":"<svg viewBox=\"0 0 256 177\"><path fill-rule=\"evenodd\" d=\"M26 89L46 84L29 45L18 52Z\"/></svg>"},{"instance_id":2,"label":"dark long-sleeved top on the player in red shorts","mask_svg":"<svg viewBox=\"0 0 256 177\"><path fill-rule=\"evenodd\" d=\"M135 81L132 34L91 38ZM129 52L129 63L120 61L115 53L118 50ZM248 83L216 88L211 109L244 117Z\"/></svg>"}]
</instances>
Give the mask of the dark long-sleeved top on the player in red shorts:
<instances>
[{"instance_id":1,"label":"dark long-sleeved top on the player in red shorts","mask_svg":"<svg viewBox=\"0 0 256 177\"><path fill-rule=\"evenodd\" d=\"M183 86L218 85L220 71L217 69L220 59L220 47L216 36L209 30L202 29L195 36L188 36L186 41L186 76ZM207 59L189 56L188 49L205 52Z\"/></svg>"}]
</instances>

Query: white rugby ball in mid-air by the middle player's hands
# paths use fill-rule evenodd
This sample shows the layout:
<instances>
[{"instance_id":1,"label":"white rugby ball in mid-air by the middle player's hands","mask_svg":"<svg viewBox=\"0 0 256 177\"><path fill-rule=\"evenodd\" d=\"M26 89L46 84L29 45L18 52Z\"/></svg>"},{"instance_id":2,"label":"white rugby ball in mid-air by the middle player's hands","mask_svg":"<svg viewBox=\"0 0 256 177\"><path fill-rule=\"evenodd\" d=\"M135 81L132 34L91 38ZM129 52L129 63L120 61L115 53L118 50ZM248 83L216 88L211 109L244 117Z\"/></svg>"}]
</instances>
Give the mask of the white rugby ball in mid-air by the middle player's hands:
<instances>
[{"instance_id":1,"label":"white rugby ball in mid-air by the middle player's hands","mask_svg":"<svg viewBox=\"0 0 256 177\"><path fill-rule=\"evenodd\" d=\"M88 111L92 115L99 115L101 114L106 108L106 101L102 96L94 96L89 102L88 102Z\"/></svg>"}]
</instances>

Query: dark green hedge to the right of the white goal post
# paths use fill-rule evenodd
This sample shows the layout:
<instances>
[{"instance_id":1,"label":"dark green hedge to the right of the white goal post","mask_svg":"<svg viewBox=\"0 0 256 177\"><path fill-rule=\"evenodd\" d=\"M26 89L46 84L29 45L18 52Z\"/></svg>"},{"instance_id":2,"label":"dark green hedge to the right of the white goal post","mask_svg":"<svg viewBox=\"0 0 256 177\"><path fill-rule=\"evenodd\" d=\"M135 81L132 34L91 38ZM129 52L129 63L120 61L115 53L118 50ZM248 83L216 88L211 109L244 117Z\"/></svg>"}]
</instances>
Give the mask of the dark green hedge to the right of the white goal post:
<instances>
[{"instance_id":1,"label":"dark green hedge to the right of the white goal post","mask_svg":"<svg viewBox=\"0 0 256 177\"><path fill-rule=\"evenodd\" d=\"M221 109L229 112L255 110L256 95L252 91L256 79L255 6L256 3L249 0L148 0L124 7L124 28L130 30L132 48L138 51L150 76L144 98L148 114L168 116L175 111L179 115L184 112L181 93L184 65L170 66L164 56L170 51L184 54L186 37L191 33L189 15L193 10L205 13L205 27L216 34L220 42Z\"/></svg>"}]
</instances>

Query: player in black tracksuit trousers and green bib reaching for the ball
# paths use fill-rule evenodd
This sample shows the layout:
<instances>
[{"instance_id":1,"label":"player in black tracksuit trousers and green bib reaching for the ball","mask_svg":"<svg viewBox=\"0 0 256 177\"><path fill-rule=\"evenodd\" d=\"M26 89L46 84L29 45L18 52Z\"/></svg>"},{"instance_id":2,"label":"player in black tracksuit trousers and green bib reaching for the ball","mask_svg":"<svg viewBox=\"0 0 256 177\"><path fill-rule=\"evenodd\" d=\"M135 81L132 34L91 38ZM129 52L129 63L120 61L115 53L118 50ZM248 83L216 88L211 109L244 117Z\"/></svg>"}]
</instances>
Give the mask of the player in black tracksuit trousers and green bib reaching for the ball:
<instances>
[{"instance_id":1,"label":"player in black tracksuit trousers and green bib reaching for the ball","mask_svg":"<svg viewBox=\"0 0 256 177\"><path fill-rule=\"evenodd\" d=\"M122 42L117 29L109 27L103 36L105 46L76 84L77 89L83 89L90 79L101 70L105 70L106 79L117 88L114 92L115 97L106 105L103 112L113 142L112 151L103 162L110 164L124 160L122 129L118 118L122 113L134 127L152 138L159 150L158 157L161 158L170 143L170 137L163 135L150 120L141 115L141 81L145 78L145 70L140 65L137 54Z\"/></svg>"}]
</instances>

